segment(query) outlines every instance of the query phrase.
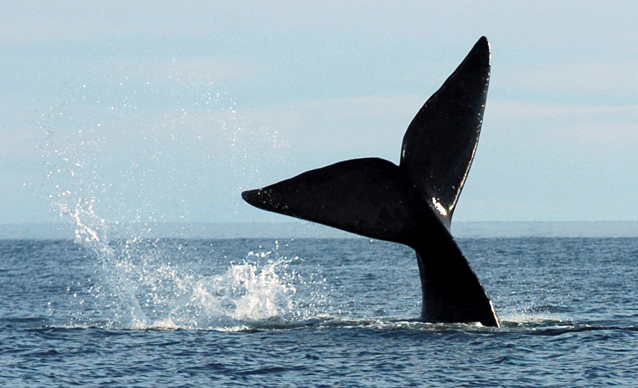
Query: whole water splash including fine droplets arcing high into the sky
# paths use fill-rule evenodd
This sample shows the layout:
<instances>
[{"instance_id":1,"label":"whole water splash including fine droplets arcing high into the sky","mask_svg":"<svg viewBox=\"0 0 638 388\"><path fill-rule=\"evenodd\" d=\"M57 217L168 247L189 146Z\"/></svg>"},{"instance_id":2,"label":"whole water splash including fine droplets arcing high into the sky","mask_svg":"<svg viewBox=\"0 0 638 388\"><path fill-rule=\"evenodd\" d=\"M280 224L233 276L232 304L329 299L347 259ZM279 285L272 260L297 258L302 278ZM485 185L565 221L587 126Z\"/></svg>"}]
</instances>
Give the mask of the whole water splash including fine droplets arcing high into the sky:
<instances>
[{"instance_id":1,"label":"whole water splash including fine droplets arcing high into the sky","mask_svg":"<svg viewBox=\"0 0 638 388\"><path fill-rule=\"evenodd\" d=\"M288 268L294 259L249 252L202 275L181 243L150 238L156 222L201 221L192 215L207 213L198 206L210 187L239 202L255 157L279 159L285 148L214 87L179 69L96 69L96 80L71 87L42 115L42 187L96 264L74 324L232 327L290 315L294 282L305 281Z\"/></svg>"}]
</instances>

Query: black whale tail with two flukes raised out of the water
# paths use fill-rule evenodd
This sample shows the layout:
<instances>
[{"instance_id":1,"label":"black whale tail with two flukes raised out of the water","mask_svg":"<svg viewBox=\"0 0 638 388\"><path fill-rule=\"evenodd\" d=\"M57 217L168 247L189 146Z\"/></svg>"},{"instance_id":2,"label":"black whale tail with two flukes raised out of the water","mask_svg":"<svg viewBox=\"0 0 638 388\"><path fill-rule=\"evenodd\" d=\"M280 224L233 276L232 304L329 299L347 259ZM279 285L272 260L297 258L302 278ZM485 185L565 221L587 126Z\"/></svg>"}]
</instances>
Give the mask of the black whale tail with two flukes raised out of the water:
<instances>
[{"instance_id":1,"label":"black whale tail with two flukes raised out of the water","mask_svg":"<svg viewBox=\"0 0 638 388\"><path fill-rule=\"evenodd\" d=\"M400 162L336 162L246 190L250 205L413 248L419 266L418 320L499 327L492 301L450 233L452 215L479 143L491 54L482 36L427 99L403 136Z\"/></svg>"}]
</instances>

